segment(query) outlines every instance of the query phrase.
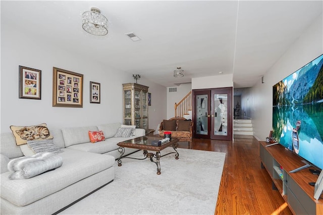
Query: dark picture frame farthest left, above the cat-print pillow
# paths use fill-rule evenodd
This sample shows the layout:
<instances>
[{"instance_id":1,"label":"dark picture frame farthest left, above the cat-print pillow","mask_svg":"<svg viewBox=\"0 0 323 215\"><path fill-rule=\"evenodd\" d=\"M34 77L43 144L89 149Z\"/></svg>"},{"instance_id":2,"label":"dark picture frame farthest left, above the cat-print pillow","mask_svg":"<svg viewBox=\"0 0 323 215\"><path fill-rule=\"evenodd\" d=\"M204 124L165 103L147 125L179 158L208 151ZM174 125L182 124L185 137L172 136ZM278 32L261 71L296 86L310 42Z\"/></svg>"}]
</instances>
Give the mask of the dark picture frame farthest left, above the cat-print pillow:
<instances>
[{"instance_id":1,"label":"dark picture frame farthest left, above the cat-print pillow","mask_svg":"<svg viewBox=\"0 0 323 215\"><path fill-rule=\"evenodd\" d=\"M19 98L41 99L41 70L19 66Z\"/></svg>"}]
</instances>

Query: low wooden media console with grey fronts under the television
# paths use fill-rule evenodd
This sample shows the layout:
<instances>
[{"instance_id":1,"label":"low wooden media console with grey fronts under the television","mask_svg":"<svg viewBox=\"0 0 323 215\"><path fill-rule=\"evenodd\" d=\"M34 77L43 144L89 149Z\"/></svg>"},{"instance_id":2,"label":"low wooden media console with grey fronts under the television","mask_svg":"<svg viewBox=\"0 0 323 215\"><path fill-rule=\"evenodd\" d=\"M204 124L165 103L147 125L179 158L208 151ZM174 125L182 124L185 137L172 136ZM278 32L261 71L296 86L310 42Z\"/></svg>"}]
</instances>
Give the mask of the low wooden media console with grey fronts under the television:
<instances>
[{"instance_id":1,"label":"low wooden media console with grey fronts under the television","mask_svg":"<svg viewBox=\"0 0 323 215\"><path fill-rule=\"evenodd\" d=\"M291 211L294 214L323 214L323 198L314 199L314 187L308 184L316 182L318 175L310 173L309 168L289 173L305 165L302 158L280 144L266 145L264 141L259 142L261 165L271 176L273 188L278 189Z\"/></svg>"}]
</instances>

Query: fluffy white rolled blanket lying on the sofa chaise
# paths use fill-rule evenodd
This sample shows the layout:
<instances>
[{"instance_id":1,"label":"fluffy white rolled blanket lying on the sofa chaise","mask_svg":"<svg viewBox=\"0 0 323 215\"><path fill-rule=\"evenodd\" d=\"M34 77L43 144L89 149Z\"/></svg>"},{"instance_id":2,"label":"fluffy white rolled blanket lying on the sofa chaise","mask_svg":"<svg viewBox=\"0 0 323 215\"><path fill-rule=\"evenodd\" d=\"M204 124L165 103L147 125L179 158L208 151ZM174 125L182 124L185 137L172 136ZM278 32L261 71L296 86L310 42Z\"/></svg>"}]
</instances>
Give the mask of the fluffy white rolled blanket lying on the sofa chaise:
<instances>
[{"instance_id":1,"label":"fluffy white rolled blanket lying on the sofa chaise","mask_svg":"<svg viewBox=\"0 0 323 215\"><path fill-rule=\"evenodd\" d=\"M63 158L58 154L40 152L31 157L18 157L10 160L9 179L28 179L49 170L61 167Z\"/></svg>"}]
</instances>

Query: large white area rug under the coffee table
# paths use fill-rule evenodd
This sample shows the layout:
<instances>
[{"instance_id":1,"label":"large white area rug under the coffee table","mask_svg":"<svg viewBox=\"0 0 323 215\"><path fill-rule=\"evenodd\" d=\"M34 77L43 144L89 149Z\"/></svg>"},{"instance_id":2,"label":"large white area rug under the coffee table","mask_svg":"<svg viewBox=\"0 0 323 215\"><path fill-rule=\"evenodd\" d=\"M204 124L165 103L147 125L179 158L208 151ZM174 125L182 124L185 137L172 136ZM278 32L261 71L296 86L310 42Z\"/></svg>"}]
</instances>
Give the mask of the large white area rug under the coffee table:
<instances>
[{"instance_id":1,"label":"large white area rug under the coffee table","mask_svg":"<svg viewBox=\"0 0 323 215\"><path fill-rule=\"evenodd\" d=\"M161 155L174 151L169 147ZM214 214L226 153L178 148L160 158L122 159L115 180L60 214ZM143 157L142 151L131 155Z\"/></svg>"}]
</instances>

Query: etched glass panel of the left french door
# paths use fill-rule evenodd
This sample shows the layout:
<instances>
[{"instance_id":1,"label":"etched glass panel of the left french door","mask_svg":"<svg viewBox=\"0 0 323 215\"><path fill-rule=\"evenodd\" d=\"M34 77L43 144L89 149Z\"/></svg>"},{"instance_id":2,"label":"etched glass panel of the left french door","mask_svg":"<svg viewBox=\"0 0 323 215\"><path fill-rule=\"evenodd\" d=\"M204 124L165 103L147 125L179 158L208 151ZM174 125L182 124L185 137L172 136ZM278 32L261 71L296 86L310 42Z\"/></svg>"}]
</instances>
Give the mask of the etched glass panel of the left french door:
<instances>
[{"instance_id":1,"label":"etched glass panel of the left french door","mask_svg":"<svg viewBox=\"0 0 323 215\"><path fill-rule=\"evenodd\" d=\"M208 134L208 95L197 95L196 102L196 134Z\"/></svg>"}]
</instances>

